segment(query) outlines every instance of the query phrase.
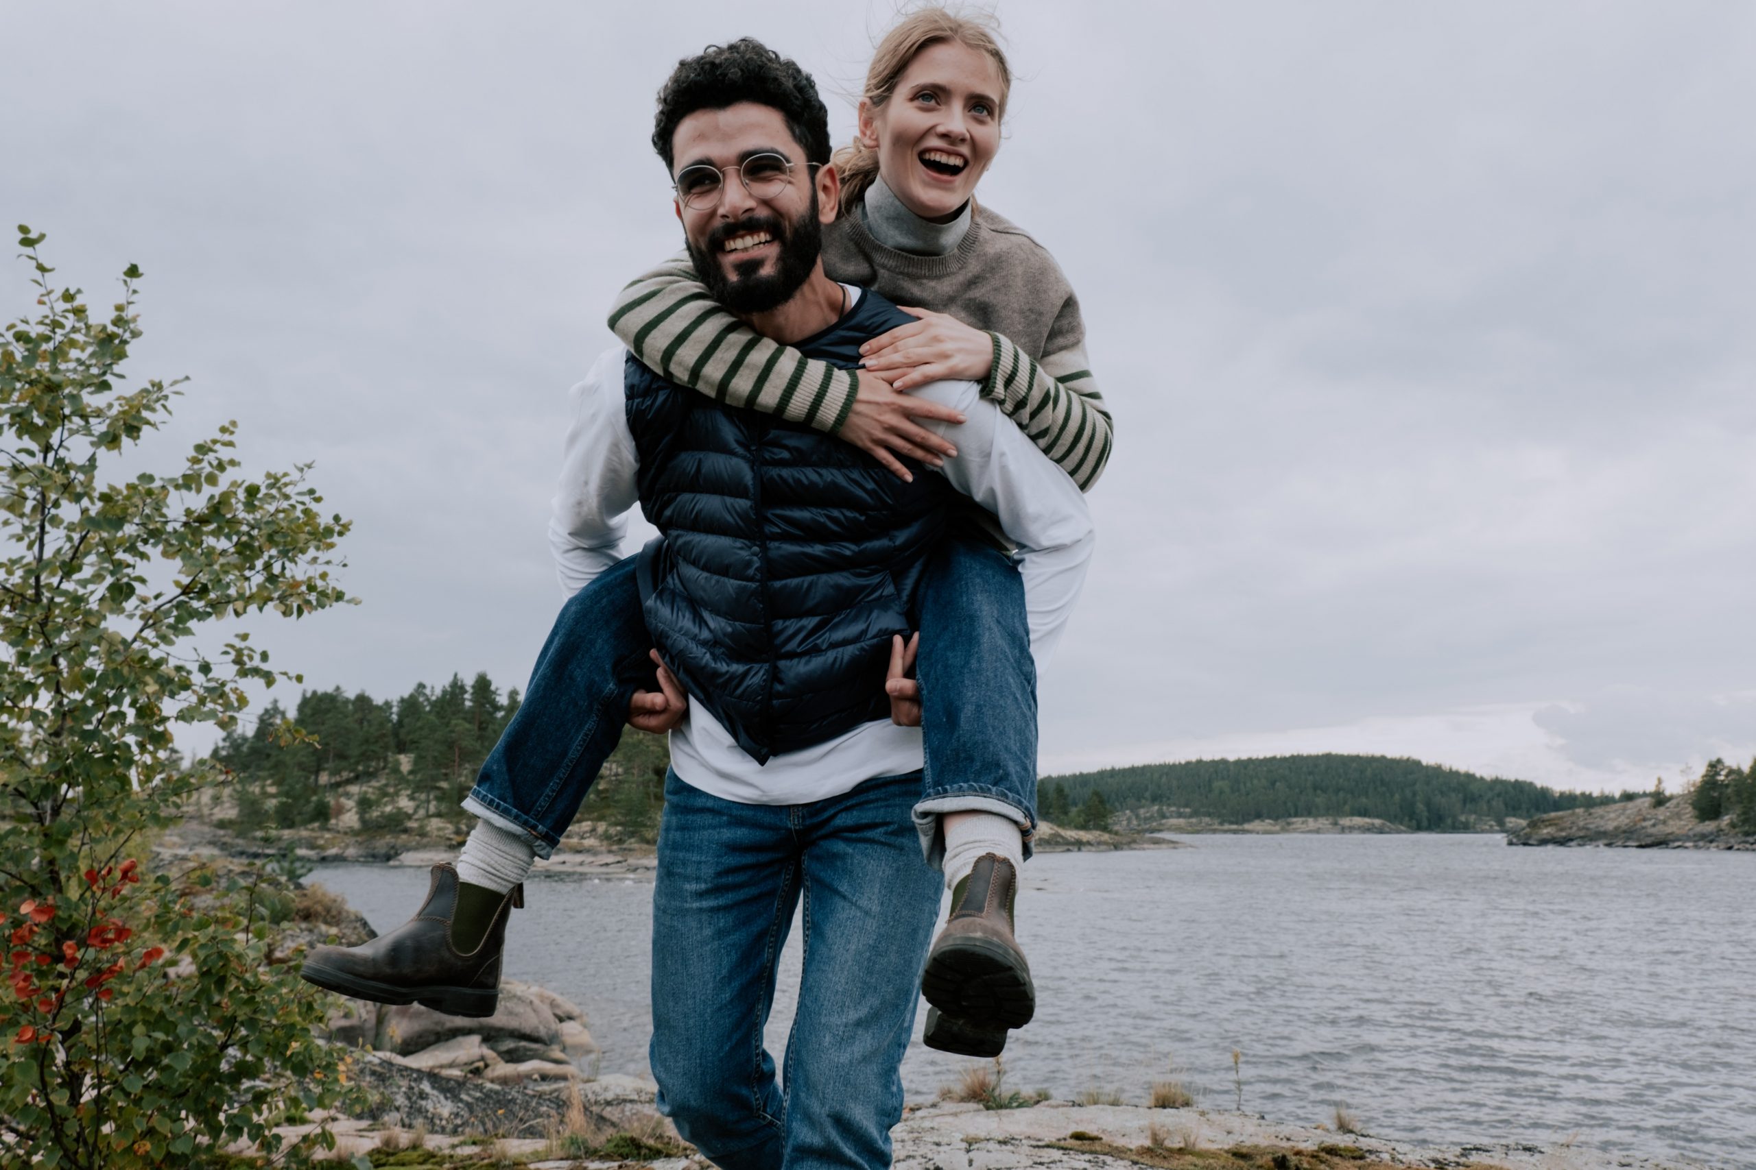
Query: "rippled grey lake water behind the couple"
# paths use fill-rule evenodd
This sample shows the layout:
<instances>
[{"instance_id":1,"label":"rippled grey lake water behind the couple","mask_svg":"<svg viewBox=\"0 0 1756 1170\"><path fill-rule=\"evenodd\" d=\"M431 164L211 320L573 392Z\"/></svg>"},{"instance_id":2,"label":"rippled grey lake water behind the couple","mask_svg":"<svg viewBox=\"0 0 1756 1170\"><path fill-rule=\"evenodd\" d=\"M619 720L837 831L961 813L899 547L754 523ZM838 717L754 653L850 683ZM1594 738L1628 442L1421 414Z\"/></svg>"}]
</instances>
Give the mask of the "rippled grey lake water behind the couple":
<instances>
[{"instance_id":1,"label":"rippled grey lake water behind the couple","mask_svg":"<svg viewBox=\"0 0 1756 1170\"><path fill-rule=\"evenodd\" d=\"M1175 1067L1199 1103L1233 1109L1241 1089L1273 1119L1345 1103L1394 1138L1756 1165L1756 854L1187 840L1026 865L1038 1014L1006 1045L1010 1086L1145 1103ZM309 881L379 931L427 889L393 867ZM650 924L650 882L625 879L537 877L513 916L506 974L590 1014L602 1072L646 1072ZM797 931L781 972L776 1054ZM903 1079L931 1098L968 1063L917 1044Z\"/></svg>"}]
</instances>

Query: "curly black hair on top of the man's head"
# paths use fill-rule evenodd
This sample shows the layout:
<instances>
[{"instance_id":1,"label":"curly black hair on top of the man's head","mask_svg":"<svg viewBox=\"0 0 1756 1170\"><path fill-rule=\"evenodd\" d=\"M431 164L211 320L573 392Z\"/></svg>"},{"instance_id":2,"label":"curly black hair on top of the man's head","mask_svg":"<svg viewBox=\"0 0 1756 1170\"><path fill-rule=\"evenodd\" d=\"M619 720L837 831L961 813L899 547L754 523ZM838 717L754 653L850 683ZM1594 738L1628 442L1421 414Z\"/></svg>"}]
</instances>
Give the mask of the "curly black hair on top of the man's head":
<instances>
[{"instance_id":1,"label":"curly black hair on top of the man's head","mask_svg":"<svg viewBox=\"0 0 1756 1170\"><path fill-rule=\"evenodd\" d=\"M658 89L653 149L666 170L676 165L671 137L680 121L695 111L723 111L739 102L774 107L804 147L806 161L829 161L829 111L824 109L824 98L817 96L817 82L797 61L760 40L743 37L727 46L708 46L701 56L683 58Z\"/></svg>"}]
</instances>

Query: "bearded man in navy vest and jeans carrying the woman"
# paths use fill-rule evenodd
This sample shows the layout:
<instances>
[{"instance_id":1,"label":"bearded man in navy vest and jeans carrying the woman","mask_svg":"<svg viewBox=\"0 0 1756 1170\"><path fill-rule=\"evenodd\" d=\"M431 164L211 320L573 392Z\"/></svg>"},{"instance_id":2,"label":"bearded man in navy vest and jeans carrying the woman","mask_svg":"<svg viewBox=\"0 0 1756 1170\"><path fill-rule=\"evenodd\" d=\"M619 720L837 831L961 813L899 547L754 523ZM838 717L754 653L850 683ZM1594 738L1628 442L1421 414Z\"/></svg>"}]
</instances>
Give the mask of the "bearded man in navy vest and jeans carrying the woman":
<instances>
[{"instance_id":1,"label":"bearded man in navy vest and jeans carrying the woman","mask_svg":"<svg viewBox=\"0 0 1756 1170\"><path fill-rule=\"evenodd\" d=\"M752 40L683 61L653 137L702 282L759 333L853 365L864 340L906 319L824 275L838 179L827 112L797 65ZM622 351L576 389L557 503L569 556L581 574L602 568L636 495L664 533L637 575L688 719L673 733L658 840L651 1068L678 1130L729 1170L890 1163L939 879L910 816L920 731L890 721L882 688L946 486L992 509L1026 558L1076 577L1090 553L1078 488L1040 456L1015 458L1008 444L1031 444L997 407L968 382L920 393L968 421L945 424L957 456L943 479L908 484ZM1018 467L1048 474L1015 482ZM1017 507L1027 493L1031 512ZM750 742L773 751L766 763ZM783 1098L762 1024L801 900Z\"/></svg>"}]
</instances>

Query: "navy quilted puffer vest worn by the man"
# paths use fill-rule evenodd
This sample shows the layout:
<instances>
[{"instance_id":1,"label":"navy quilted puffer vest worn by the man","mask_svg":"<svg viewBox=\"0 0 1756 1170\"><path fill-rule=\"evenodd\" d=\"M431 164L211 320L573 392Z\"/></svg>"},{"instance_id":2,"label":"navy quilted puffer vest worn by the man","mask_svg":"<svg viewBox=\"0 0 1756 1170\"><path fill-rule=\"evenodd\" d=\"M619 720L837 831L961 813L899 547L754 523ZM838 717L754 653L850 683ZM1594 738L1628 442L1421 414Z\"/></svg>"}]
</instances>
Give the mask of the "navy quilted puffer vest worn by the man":
<instances>
[{"instance_id":1,"label":"navy quilted puffer vest worn by the man","mask_svg":"<svg viewBox=\"0 0 1756 1170\"><path fill-rule=\"evenodd\" d=\"M859 347L915 317L867 291L804 354ZM646 628L683 688L759 763L885 719L890 637L915 628L922 567L952 489L904 484L864 451L673 386L629 356ZM815 393L813 386L794 386Z\"/></svg>"}]
</instances>

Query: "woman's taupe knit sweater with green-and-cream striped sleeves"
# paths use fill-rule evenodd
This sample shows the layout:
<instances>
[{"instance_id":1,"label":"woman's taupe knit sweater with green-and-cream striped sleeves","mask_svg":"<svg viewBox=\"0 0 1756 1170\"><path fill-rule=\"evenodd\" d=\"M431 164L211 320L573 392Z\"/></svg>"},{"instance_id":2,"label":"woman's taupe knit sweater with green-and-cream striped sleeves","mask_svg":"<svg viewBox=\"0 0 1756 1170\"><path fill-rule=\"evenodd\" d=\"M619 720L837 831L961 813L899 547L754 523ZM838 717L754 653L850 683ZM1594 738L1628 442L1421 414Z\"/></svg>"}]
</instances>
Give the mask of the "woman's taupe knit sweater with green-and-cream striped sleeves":
<instances>
[{"instance_id":1,"label":"woman's taupe knit sweater with green-and-cream striped sleeves","mask_svg":"<svg viewBox=\"0 0 1756 1170\"><path fill-rule=\"evenodd\" d=\"M824 230L824 268L899 305L948 312L994 337L982 386L1085 491L1110 460L1110 412L1085 360L1085 323L1061 267L1041 244L980 203L945 256L885 247L860 216ZM716 400L834 433L853 409L859 374L767 340L722 309L687 254L616 298L609 328L671 381Z\"/></svg>"}]
</instances>

